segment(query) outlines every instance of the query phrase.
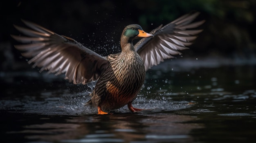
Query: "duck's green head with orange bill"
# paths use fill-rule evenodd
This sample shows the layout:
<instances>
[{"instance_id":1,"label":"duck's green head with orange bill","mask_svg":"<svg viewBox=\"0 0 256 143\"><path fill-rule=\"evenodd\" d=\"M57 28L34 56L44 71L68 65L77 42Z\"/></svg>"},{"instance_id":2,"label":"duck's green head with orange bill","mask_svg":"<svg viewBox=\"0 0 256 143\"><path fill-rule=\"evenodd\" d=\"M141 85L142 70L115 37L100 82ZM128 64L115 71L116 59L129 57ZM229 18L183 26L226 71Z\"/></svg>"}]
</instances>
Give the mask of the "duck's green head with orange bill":
<instances>
[{"instance_id":1,"label":"duck's green head with orange bill","mask_svg":"<svg viewBox=\"0 0 256 143\"><path fill-rule=\"evenodd\" d=\"M138 24L130 24L124 28L122 36L125 36L129 40L133 40L139 37L153 37L154 35L143 31Z\"/></svg>"}]
</instances>

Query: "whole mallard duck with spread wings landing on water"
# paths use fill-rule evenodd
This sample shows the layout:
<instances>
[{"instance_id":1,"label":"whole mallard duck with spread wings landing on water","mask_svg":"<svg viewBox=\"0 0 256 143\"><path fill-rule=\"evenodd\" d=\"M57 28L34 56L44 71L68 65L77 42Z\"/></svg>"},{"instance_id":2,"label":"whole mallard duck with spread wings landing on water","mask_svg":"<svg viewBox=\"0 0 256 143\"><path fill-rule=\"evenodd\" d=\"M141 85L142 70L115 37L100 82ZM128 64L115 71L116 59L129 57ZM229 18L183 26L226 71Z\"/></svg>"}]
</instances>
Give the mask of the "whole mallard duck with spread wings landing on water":
<instances>
[{"instance_id":1,"label":"whole mallard duck with spread wings landing on water","mask_svg":"<svg viewBox=\"0 0 256 143\"><path fill-rule=\"evenodd\" d=\"M40 72L56 75L65 73L65 79L73 84L87 84L97 81L89 104L98 109L98 114L128 105L132 112L135 100L145 79L146 71L153 65L181 54L202 30L188 30L200 26L204 21L193 22L198 12L189 13L150 33L138 24L130 24L121 34L121 53L101 56L76 40L58 35L38 24L22 20L29 27L14 27L27 36L11 35L18 42L15 45L22 56L31 58L28 63L39 67ZM135 45L134 39L141 38Z\"/></svg>"}]
</instances>

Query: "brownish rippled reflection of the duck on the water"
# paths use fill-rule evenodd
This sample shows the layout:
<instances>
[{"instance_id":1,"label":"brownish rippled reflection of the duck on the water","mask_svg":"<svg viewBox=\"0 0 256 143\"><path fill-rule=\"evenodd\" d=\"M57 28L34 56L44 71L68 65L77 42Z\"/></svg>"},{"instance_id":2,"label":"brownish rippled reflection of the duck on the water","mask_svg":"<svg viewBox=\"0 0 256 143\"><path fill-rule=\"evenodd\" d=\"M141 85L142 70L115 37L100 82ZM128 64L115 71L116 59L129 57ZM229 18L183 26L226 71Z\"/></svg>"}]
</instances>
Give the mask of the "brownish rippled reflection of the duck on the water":
<instances>
[{"instance_id":1,"label":"brownish rippled reflection of the duck on the water","mask_svg":"<svg viewBox=\"0 0 256 143\"><path fill-rule=\"evenodd\" d=\"M22 114L17 114L22 115ZM30 115L31 116L31 115ZM102 143L131 141L193 141L192 129L203 128L199 123L186 123L196 117L178 114L115 114L81 117L41 116L27 119L29 125L8 135L23 134L27 140L60 141L63 143ZM15 120L13 120L15 121ZM139 128L138 128L139 127Z\"/></svg>"}]
</instances>

